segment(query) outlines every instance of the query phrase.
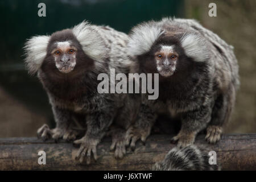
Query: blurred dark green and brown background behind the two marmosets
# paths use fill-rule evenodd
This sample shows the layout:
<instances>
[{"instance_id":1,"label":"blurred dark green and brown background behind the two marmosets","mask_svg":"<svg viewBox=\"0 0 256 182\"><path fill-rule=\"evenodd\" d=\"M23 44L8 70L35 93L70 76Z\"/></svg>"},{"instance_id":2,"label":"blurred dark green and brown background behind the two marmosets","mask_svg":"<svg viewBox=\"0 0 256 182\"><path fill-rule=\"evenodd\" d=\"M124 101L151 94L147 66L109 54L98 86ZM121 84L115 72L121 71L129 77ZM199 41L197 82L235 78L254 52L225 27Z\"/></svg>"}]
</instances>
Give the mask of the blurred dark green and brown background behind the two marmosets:
<instances>
[{"instance_id":1,"label":"blurred dark green and brown background behind the two marmosets","mask_svg":"<svg viewBox=\"0 0 256 182\"><path fill-rule=\"evenodd\" d=\"M38 4L46 4L46 17ZM208 16L208 5L217 5L217 17ZM256 37L254 0L152 1L56 0L0 1L0 137L35 136L43 123L54 126L51 106L42 85L28 76L22 59L24 42L33 35L75 26L86 19L128 33L137 23L165 16L197 19L235 47L240 64L241 89L226 133L255 133Z\"/></svg>"}]
</instances>

